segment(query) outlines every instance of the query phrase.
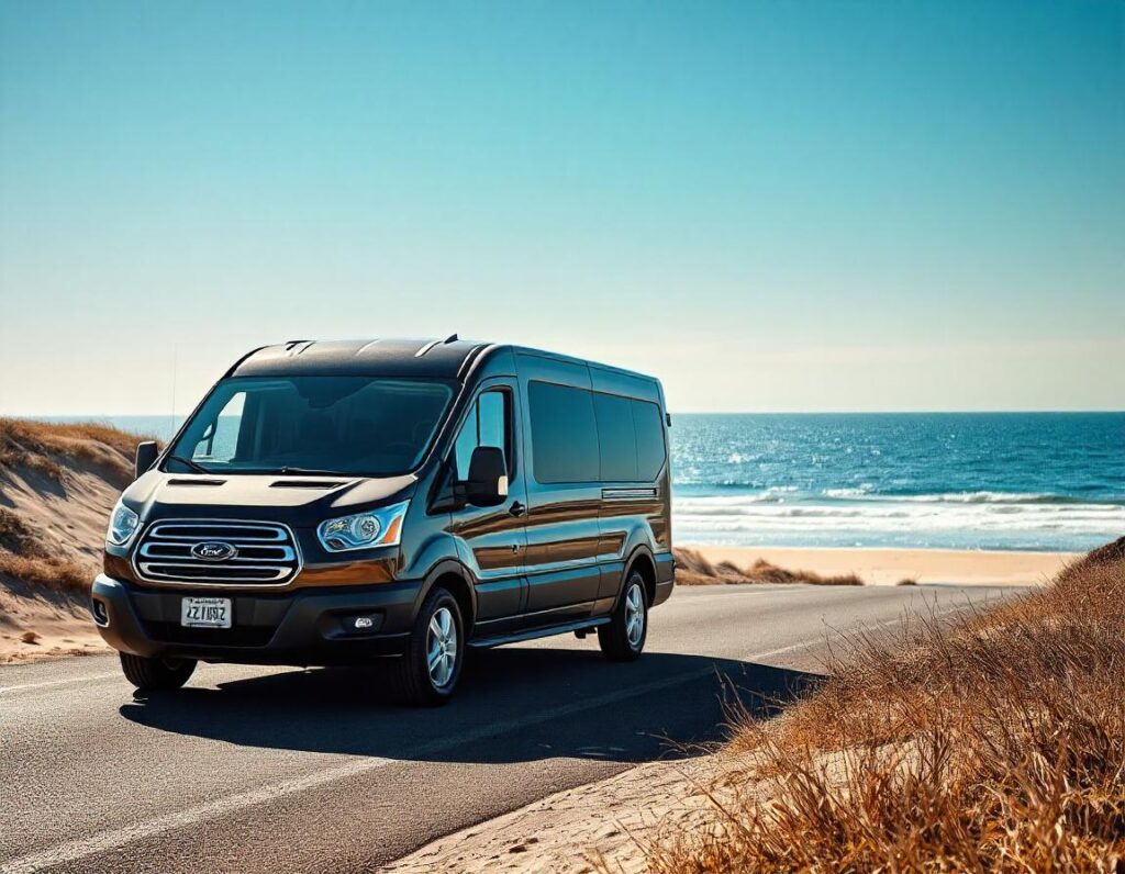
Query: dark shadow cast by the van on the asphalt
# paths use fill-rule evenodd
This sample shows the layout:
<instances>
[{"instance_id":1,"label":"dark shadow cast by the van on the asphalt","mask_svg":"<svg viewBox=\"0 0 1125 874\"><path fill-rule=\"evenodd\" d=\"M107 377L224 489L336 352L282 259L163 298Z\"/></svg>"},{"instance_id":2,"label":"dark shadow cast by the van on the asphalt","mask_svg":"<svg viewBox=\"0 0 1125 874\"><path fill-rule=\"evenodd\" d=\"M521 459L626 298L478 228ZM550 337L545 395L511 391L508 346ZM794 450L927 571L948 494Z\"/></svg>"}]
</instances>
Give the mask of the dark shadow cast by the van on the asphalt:
<instances>
[{"instance_id":1,"label":"dark shadow cast by the van on the asphalt","mask_svg":"<svg viewBox=\"0 0 1125 874\"><path fill-rule=\"evenodd\" d=\"M736 699L765 717L818 678L704 656L648 652L621 665L593 650L504 648L471 654L457 697L439 710L396 706L379 668L323 668L136 697L120 713L248 747L462 763L644 762L721 740Z\"/></svg>"}]
</instances>

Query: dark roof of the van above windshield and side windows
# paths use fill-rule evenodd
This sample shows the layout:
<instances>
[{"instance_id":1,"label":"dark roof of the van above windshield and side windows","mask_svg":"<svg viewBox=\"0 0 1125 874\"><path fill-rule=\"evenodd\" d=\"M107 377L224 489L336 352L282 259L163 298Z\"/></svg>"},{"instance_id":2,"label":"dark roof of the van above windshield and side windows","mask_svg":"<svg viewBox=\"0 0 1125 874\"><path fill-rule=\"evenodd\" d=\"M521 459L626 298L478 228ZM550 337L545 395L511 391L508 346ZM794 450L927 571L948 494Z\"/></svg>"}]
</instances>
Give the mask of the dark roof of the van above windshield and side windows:
<instances>
[{"instance_id":1,"label":"dark roof of the van above windshield and side windows","mask_svg":"<svg viewBox=\"0 0 1125 874\"><path fill-rule=\"evenodd\" d=\"M543 352L525 346L498 345L461 340L453 334L444 340L290 340L261 346L234 363L226 376L402 376L436 379L462 379L470 368L503 350L591 364L642 379L652 377L594 361Z\"/></svg>"}]
</instances>

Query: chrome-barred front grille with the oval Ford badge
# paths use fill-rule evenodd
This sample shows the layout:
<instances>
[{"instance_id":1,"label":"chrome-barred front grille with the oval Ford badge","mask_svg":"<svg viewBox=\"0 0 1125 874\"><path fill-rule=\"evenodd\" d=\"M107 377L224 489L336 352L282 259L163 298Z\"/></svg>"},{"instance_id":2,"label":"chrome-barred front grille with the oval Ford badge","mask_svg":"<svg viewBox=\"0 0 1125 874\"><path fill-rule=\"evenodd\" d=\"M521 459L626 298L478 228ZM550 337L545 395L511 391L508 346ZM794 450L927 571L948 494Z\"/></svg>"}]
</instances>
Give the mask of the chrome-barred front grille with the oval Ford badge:
<instances>
[{"instance_id":1,"label":"chrome-barred front grille with the oval Ford badge","mask_svg":"<svg viewBox=\"0 0 1125 874\"><path fill-rule=\"evenodd\" d=\"M200 556L227 548L230 556ZM145 531L133 567L150 583L284 586L297 576L300 556L292 532L272 522L168 520Z\"/></svg>"}]
</instances>

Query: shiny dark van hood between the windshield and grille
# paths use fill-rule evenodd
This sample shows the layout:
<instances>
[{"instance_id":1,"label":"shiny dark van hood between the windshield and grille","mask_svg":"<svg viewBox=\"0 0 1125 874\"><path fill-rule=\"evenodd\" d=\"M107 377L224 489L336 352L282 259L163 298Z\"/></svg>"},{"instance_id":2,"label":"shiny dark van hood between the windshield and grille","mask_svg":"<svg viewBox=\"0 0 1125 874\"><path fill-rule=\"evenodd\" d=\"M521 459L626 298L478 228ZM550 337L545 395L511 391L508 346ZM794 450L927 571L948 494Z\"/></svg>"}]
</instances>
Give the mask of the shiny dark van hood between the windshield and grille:
<instances>
[{"instance_id":1,"label":"shiny dark van hood between the windshield and grille","mask_svg":"<svg viewBox=\"0 0 1125 874\"><path fill-rule=\"evenodd\" d=\"M309 528L334 515L408 498L417 477L165 474L150 470L123 494L154 519L259 519ZM260 508L260 512L255 512Z\"/></svg>"}]
</instances>

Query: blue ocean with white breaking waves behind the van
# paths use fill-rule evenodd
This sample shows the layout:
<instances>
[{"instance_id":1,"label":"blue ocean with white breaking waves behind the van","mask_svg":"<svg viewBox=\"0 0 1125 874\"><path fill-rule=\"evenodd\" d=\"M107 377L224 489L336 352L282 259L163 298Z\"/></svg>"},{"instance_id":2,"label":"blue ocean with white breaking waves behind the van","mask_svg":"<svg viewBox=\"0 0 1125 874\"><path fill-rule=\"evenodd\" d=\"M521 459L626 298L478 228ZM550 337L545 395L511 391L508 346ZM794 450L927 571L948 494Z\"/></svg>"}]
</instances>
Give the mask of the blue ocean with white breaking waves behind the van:
<instances>
[{"instance_id":1,"label":"blue ocean with white breaking waves behind the van","mask_svg":"<svg viewBox=\"0 0 1125 874\"><path fill-rule=\"evenodd\" d=\"M681 543L1079 551L1125 534L1125 413L674 414L670 435Z\"/></svg>"}]
</instances>

